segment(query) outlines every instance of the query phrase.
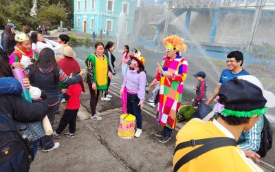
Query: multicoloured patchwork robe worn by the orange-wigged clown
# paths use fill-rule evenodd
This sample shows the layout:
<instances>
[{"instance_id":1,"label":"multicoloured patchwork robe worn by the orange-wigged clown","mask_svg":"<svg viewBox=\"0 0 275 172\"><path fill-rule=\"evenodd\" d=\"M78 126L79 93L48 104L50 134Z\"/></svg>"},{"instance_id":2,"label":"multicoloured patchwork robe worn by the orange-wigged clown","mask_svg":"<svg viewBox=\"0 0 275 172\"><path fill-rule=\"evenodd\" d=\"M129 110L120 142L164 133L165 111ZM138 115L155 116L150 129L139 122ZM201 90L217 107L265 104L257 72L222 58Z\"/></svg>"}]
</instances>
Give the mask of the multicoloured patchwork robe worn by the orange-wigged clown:
<instances>
[{"instance_id":1,"label":"multicoloured patchwork robe worn by the orange-wigged clown","mask_svg":"<svg viewBox=\"0 0 275 172\"><path fill-rule=\"evenodd\" d=\"M177 55L173 61L169 61L169 59L168 57L163 58L162 69L175 76L175 78L168 78L170 85L166 77L164 77L160 71L157 73L157 76L155 76L157 80L160 80L157 120L162 126L175 129L175 116L177 114L177 109L179 109L181 105L188 63L185 58L179 55Z\"/></svg>"}]
</instances>

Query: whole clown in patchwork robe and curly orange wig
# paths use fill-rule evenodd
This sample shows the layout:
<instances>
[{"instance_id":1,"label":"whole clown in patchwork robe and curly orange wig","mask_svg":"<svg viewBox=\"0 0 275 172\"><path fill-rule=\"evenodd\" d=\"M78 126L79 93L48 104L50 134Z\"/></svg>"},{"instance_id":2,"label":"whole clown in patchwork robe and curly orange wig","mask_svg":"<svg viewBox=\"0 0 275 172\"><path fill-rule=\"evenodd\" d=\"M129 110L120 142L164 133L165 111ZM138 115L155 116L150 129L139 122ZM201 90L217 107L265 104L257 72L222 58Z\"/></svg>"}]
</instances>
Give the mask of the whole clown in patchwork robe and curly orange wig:
<instances>
[{"instance_id":1,"label":"whole clown in patchwork robe and curly orange wig","mask_svg":"<svg viewBox=\"0 0 275 172\"><path fill-rule=\"evenodd\" d=\"M175 117L181 105L188 63L185 58L179 56L179 52L186 50L183 39L173 35L166 37L163 43L166 45L167 56L163 58L162 68L149 87L153 87L157 80L160 81L157 121L164 126L164 131L155 135L160 138L159 142L168 142L172 130L176 127Z\"/></svg>"}]
</instances>

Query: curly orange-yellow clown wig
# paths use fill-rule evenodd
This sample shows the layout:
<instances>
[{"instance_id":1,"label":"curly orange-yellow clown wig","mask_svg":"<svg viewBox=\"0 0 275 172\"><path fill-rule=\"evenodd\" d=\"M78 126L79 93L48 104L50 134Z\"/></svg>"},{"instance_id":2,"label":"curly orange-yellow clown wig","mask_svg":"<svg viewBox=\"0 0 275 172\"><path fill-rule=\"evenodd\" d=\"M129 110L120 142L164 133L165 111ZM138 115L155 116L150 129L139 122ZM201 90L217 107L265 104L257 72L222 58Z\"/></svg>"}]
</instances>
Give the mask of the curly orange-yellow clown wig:
<instances>
[{"instance_id":1,"label":"curly orange-yellow clown wig","mask_svg":"<svg viewBox=\"0 0 275 172\"><path fill-rule=\"evenodd\" d=\"M184 43L184 39L177 35L167 36L162 43L164 47L169 45L169 47L175 48L177 52L185 52L187 49L187 45Z\"/></svg>"}]
</instances>

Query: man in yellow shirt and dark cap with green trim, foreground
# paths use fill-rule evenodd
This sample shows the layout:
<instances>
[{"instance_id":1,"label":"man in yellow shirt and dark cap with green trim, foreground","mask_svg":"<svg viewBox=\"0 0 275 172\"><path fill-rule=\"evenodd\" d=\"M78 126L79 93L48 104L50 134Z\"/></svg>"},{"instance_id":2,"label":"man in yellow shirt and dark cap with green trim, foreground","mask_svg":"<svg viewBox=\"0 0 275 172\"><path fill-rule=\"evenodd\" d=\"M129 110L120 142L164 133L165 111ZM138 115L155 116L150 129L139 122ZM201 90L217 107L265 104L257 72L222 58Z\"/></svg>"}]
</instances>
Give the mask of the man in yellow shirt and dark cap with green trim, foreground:
<instances>
[{"instance_id":1,"label":"man in yellow shirt and dark cap with green trim, foreground","mask_svg":"<svg viewBox=\"0 0 275 172\"><path fill-rule=\"evenodd\" d=\"M203 122L195 118L177 133L176 147L182 142L192 143L182 149L176 148L173 158L174 171L263 171L251 159L245 157L239 146L236 146L235 140L239 139L242 131L254 126L265 114L267 107L275 106L274 94L263 89L256 77L238 76L221 85L219 103L215 106L219 113L217 120ZM199 144L199 140L218 137L232 138L230 140L234 140L234 146L230 144L201 155L190 155L203 144L209 145L206 142ZM217 139L217 144L221 144L220 139ZM253 159L259 160L257 157Z\"/></svg>"}]
</instances>

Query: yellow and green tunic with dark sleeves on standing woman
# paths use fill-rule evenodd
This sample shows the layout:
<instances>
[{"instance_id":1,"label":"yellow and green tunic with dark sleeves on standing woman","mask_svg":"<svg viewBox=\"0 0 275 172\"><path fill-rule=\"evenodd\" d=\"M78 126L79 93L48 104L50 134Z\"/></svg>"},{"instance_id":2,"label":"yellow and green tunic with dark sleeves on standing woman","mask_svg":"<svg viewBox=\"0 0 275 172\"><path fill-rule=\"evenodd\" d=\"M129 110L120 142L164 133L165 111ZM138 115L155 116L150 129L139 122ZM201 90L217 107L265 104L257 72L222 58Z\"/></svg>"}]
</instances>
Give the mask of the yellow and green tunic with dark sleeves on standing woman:
<instances>
[{"instance_id":1,"label":"yellow and green tunic with dark sleeves on standing woman","mask_svg":"<svg viewBox=\"0 0 275 172\"><path fill-rule=\"evenodd\" d=\"M104 59L100 60L95 54L91 54L87 57L85 64L88 71L85 76L85 82L87 83L87 77L89 77L91 83L96 83L96 88L99 91L107 90L108 57L104 55Z\"/></svg>"}]
</instances>

